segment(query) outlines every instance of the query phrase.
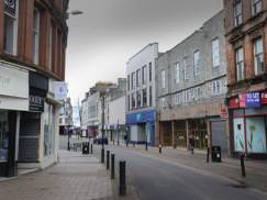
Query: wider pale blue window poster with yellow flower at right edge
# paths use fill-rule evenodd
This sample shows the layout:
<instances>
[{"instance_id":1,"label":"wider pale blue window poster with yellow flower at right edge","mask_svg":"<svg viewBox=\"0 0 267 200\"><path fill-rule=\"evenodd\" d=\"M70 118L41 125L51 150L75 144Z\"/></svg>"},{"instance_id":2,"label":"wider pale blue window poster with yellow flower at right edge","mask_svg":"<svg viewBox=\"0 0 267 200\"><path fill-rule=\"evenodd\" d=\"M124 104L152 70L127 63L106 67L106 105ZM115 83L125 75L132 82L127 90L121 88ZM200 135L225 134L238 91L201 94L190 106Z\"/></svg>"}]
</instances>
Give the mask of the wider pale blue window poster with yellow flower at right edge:
<instances>
[{"instance_id":1,"label":"wider pale blue window poster with yellow flower at right edge","mask_svg":"<svg viewBox=\"0 0 267 200\"><path fill-rule=\"evenodd\" d=\"M248 153L266 153L264 118L246 119L246 143Z\"/></svg>"}]
</instances>

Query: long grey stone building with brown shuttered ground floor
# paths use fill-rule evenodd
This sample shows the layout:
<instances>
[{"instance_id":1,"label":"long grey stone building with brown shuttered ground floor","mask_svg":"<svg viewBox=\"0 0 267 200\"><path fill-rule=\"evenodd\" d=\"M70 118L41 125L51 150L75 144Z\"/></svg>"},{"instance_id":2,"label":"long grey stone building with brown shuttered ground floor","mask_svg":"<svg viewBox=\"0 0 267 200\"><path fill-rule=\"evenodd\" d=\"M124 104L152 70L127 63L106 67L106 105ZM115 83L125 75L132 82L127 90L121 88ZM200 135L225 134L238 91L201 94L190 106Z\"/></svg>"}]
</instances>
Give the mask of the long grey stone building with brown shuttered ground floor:
<instances>
[{"instance_id":1,"label":"long grey stone building with brown shuttered ground floor","mask_svg":"<svg viewBox=\"0 0 267 200\"><path fill-rule=\"evenodd\" d=\"M160 55L156 65L157 135L165 146L227 149L224 12Z\"/></svg>"}]
</instances>

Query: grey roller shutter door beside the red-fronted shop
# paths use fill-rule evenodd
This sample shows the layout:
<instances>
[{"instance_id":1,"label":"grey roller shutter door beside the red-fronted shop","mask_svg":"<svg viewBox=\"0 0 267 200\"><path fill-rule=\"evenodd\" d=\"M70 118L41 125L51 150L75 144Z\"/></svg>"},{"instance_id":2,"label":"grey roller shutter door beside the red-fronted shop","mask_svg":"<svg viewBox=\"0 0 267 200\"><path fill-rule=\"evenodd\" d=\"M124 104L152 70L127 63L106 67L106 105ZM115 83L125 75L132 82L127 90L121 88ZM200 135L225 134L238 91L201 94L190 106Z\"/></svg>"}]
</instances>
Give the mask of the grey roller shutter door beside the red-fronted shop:
<instances>
[{"instance_id":1,"label":"grey roller shutter door beside the red-fronted shop","mask_svg":"<svg viewBox=\"0 0 267 200\"><path fill-rule=\"evenodd\" d=\"M211 122L211 145L221 146L222 153L226 154L226 121Z\"/></svg>"}]
</instances>

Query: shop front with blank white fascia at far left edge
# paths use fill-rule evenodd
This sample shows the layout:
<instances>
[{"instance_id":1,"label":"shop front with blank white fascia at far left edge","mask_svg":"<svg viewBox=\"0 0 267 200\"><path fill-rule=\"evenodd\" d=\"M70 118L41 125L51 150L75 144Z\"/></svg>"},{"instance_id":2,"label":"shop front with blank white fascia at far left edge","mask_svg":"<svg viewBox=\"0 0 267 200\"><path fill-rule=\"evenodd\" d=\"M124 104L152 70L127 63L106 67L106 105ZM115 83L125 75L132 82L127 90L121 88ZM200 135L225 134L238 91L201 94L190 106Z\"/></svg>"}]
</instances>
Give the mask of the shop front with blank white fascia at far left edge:
<instances>
[{"instance_id":1,"label":"shop front with blank white fascia at far left edge","mask_svg":"<svg viewBox=\"0 0 267 200\"><path fill-rule=\"evenodd\" d=\"M0 177L16 176L21 111L29 110L29 71L0 62Z\"/></svg>"}]
</instances>

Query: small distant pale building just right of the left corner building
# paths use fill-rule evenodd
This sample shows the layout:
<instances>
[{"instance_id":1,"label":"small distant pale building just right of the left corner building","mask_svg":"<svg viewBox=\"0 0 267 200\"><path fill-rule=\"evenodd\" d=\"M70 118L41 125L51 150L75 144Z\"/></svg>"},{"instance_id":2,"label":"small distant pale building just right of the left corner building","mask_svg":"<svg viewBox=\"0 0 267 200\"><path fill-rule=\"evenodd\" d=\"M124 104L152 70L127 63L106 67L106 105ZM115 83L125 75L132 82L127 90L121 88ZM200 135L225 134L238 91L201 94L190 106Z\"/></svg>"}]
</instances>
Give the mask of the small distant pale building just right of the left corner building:
<instances>
[{"instance_id":1,"label":"small distant pale building just right of the left corner building","mask_svg":"<svg viewBox=\"0 0 267 200\"><path fill-rule=\"evenodd\" d=\"M73 126L74 121L73 121L73 105L70 102L70 98L67 98L59 112L59 134L64 135L67 134L65 132L66 127Z\"/></svg>"}]
</instances>

